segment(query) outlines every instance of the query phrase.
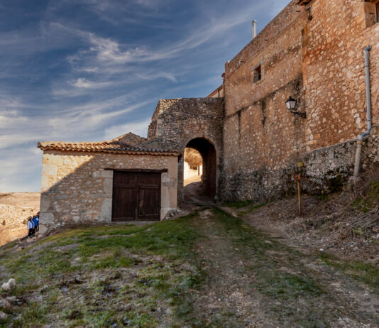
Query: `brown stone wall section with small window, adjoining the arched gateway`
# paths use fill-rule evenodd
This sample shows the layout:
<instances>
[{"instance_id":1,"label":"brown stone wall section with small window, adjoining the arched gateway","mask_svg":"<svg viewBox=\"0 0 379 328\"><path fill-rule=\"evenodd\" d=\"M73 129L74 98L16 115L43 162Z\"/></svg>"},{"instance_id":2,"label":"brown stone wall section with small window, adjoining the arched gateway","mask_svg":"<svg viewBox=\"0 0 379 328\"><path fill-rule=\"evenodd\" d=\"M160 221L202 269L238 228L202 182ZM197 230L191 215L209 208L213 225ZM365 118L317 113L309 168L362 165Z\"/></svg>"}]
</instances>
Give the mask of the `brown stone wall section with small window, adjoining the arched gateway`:
<instances>
[{"instance_id":1,"label":"brown stone wall section with small window, adjoining the arched gateway","mask_svg":"<svg viewBox=\"0 0 379 328\"><path fill-rule=\"evenodd\" d=\"M226 180L284 169L305 151L304 119L292 116L285 106L292 96L300 99L300 110L304 107L302 28L307 13L296 2L291 1L236 58L226 63ZM261 80L254 82L258 66Z\"/></svg>"}]
</instances>

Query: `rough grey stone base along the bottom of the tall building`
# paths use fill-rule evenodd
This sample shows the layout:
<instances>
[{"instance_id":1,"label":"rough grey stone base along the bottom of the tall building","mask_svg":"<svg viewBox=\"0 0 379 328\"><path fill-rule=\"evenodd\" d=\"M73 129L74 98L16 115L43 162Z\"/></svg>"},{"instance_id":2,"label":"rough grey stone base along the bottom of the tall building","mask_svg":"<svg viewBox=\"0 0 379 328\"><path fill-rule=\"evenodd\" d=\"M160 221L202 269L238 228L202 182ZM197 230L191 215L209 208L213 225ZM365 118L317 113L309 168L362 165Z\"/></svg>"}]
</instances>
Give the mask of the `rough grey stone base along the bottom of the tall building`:
<instances>
[{"instance_id":1,"label":"rough grey stone base along the bottom of the tall building","mask_svg":"<svg viewBox=\"0 0 379 328\"><path fill-rule=\"evenodd\" d=\"M241 170L233 175L223 176L221 194L224 199L251 199L256 202L292 195L296 192L293 177L297 173L308 179L301 183L303 192L336 192L353 175L355 155L356 141L346 141L307 153L301 158L304 163L302 168L297 168L294 161L279 170ZM374 163L379 163L378 135L372 135L363 142L362 170L370 170Z\"/></svg>"}]
</instances>

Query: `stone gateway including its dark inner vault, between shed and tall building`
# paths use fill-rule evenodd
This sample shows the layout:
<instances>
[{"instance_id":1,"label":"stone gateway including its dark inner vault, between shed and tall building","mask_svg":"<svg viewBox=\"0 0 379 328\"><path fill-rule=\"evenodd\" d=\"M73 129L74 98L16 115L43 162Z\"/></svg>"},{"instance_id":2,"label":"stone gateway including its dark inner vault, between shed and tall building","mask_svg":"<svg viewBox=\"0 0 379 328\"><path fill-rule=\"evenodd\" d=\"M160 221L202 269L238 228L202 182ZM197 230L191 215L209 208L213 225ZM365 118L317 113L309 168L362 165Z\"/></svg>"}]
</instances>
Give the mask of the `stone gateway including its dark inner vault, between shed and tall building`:
<instances>
[{"instance_id":1,"label":"stone gateway including its dark inner vault, between shed and tall building","mask_svg":"<svg viewBox=\"0 0 379 328\"><path fill-rule=\"evenodd\" d=\"M153 114L146 146L165 149L194 148L203 158L202 187L209 197L219 192L222 164L224 99L163 99ZM183 198L184 158L178 163L177 193Z\"/></svg>"}]
</instances>

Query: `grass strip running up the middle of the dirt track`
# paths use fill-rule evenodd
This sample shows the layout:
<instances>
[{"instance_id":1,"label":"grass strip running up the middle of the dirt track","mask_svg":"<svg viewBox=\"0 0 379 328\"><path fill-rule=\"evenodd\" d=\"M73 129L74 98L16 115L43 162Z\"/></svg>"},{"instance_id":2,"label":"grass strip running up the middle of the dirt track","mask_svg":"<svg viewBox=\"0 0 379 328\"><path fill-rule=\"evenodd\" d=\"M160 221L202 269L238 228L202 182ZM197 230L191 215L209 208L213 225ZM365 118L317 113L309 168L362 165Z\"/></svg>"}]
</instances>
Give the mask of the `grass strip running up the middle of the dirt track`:
<instances>
[{"instance_id":1,"label":"grass strip running up the middle of the dirt track","mask_svg":"<svg viewBox=\"0 0 379 328\"><path fill-rule=\"evenodd\" d=\"M238 255L251 261L248 269L256 282L249 288L265 295L268 311L277 313L283 320L287 317L293 322L304 320L299 327L327 327L323 325L334 313L318 305L326 293L317 278L304 270L302 255L258 233L238 217L219 209L216 216L238 248ZM283 267L290 270L287 272ZM307 307L301 313L293 311L294 307L301 306L302 299L307 300Z\"/></svg>"}]
</instances>

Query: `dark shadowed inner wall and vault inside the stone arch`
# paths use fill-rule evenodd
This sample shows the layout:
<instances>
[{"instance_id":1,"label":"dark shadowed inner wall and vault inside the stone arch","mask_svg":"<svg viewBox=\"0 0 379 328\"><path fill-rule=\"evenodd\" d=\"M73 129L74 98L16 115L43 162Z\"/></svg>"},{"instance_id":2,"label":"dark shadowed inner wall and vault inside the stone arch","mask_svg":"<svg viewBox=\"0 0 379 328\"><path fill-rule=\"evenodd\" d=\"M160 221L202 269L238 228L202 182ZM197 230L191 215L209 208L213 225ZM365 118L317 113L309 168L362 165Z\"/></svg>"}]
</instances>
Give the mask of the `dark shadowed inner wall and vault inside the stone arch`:
<instances>
[{"instance_id":1,"label":"dark shadowed inner wall and vault inside the stone arch","mask_svg":"<svg viewBox=\"0 0 379 328\"><path fill-rule=\"evenodd\" d=\"M213 143L206 138L194 138L185 148L193 148L202 156L202 192L214 199L217 192L217 154Z\"/></svg>"}]
</instances>

